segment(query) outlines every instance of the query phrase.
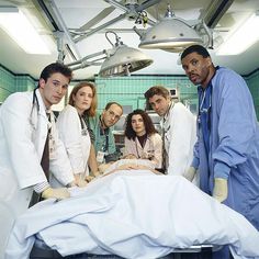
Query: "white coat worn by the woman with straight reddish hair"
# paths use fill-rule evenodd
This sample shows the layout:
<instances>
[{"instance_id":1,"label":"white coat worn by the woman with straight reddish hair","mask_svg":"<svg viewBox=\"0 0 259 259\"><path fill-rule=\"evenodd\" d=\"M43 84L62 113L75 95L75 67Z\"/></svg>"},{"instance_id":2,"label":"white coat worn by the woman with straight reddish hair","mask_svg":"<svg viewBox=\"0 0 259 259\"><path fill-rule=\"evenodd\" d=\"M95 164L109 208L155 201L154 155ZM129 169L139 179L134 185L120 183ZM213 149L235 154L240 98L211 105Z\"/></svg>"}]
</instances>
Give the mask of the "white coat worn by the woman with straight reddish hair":
<instances>
[{"instance_id":1,"label":"white coat worn by the woman with straight reddish hair","mask_svg":"<svg viewBox=\"0 0 259 259\"><path fill-rule=\"evenodd\" d=\"M88 158L90 155L91 140L87 131L82 133L81 122L77 109L67 105L57 119L59 136L66 147L67 155L74 173L89 176Z\"/></svg>"}]
</instances>

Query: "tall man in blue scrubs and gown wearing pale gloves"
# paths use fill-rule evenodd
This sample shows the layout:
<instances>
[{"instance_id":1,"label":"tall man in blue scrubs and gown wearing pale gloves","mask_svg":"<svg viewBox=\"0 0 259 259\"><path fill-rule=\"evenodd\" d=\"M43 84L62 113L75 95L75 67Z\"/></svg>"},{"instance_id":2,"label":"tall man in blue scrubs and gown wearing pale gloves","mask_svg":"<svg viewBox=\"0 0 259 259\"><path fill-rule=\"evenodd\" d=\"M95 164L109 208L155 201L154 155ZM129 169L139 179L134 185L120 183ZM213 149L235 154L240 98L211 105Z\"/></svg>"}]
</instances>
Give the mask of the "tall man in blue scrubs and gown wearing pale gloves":
<instances>
[{"instance_id":1,"label":"tall man in blue scrubs and gown wearing pale gloves","mask_svg":"<svg viewBox=\"0 0 259 259\"><path fill-rule=\"evenodd\" d=\"M215 67L203 46L188 47L181 63L199 86L198 142L187 178L199 170L200 188L259 230L259 125L249 89L235 71Z\"/></svg>"}]
</instances>

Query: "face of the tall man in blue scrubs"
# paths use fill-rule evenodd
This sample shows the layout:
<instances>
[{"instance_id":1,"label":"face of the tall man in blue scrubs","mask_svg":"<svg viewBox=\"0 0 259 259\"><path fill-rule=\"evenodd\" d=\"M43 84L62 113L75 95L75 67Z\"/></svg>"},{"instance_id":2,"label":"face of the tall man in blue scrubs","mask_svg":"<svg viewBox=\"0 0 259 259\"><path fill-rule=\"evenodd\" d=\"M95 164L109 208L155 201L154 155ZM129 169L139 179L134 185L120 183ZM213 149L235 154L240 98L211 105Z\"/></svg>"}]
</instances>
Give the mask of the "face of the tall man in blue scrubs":
<instances>
[{"instance_id":1,"label":"face of the tall man in blue scrubs","mask_svg":"<svg viewBox=\"0 0 259 259\"><path fill-rule=\"evenodd\" d=\"M182 68L193 85L207 86L214 75L214 66L211 57L203 57L198 53L191 53L181 60Z\"/></svg>"}]
</instances>

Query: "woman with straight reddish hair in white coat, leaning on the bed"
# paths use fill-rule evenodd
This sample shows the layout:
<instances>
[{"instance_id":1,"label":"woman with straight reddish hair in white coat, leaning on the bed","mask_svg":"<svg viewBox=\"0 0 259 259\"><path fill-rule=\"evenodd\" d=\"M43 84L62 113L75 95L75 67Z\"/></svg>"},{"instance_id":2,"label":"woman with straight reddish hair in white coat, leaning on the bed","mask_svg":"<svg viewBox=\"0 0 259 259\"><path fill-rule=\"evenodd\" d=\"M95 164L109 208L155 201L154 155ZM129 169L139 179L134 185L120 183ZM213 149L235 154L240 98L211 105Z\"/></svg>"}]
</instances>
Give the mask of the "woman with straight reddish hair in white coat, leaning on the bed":
<instances>
[{"instance_id":1,"label":"woman with straight reddish hair in white coat, leaning on the bed","mask_svg":"<svg viewBox=\"0 0 259 259\"><path fill-rule=\"evenodd\" d=\"M91 159L91 140L88 126L83 120L86 113L95 114L97 91L92 82L80 82L74 87L68 105L61 111L57 120L60 138L65 144L67 155L78 185L86 185L89 176L88 165L95 172L98 165L95 156Z\"/></svg>"}]
</instances>

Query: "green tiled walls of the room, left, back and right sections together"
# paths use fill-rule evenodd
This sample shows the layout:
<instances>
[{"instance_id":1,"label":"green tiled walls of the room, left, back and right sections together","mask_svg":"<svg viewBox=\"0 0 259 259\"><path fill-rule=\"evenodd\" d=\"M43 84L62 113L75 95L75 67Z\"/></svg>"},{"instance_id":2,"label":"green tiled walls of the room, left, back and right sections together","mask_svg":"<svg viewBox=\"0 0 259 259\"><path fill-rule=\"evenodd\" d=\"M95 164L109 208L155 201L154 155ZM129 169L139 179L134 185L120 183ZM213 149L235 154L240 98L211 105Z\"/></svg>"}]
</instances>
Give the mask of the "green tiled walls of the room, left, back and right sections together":
<instances>
[{"instance_id":1,"label":"green tiled walls of the room, left, back and right sections together","mask_svg":"<svg viewBox=\"0 0 259 259\"><path fill-rule=\"evenodd\" d=\"M245 77L251 91L254 103L259 120L259 69ZM30 76L15 76L0 65L0 102L16 91L34 89L37 82ZM71 82L75 85L75 82ZM116 101L122 105L132 105L133 109L144 109L144 92L153 86L177 88L180 99L195 106L196 87L184 76L131 76L116 78L95 77L98 88L98 110L101 111L109 101Z\"/></svg>"}]
</instances>

